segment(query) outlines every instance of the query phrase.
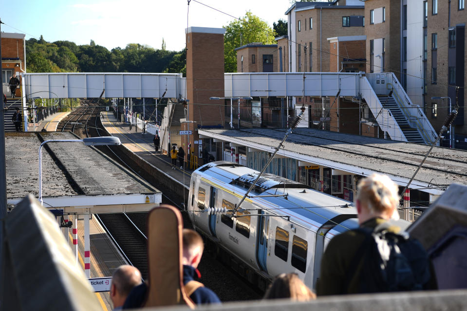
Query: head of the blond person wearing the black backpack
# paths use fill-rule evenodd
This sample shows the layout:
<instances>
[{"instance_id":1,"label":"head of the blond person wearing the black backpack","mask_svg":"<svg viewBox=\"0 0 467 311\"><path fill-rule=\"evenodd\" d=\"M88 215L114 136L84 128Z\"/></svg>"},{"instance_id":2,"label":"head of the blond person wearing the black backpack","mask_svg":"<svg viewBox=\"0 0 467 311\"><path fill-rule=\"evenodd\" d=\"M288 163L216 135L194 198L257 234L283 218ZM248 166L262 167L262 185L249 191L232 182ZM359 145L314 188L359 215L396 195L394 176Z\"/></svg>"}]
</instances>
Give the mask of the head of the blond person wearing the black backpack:
<instances>
[{"instance_id":1,"label":"head of the blond person wearing the black backpack","mask_svg":"<svg viewBox=\"0 0 467 311\"><path fill-rule=\"evenodd\" d=\"M358 183L358 222L374 217L398 219L399 187L387 176L373 174Z\"/></svg>"}]
</instances>

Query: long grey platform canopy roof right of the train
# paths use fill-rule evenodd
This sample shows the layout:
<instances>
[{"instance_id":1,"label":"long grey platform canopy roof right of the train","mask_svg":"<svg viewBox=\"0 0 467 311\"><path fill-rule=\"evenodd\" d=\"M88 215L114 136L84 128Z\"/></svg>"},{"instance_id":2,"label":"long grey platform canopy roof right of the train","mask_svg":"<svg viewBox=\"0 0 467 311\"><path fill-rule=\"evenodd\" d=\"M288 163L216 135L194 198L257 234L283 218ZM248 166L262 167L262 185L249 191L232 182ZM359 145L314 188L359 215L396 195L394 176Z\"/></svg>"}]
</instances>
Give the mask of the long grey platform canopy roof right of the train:
<instances>
[{"instance_id":1,"label":"long grey platform canopy roof right of the train","mask_svg":"<svg viewBox=\"0 0 467 311\"><path fill-rule=\"evenodd\" d=\"M199 134L239 146L273 152L285 129L200 129ZM287 138L278 155L368 176L387 174L405 186L430 146L377 139L312 128L297 128ZM310 164L310 165L311 165ZM438 187L467 184L467 152L434 147L411 184L412 189L441 194Z\"/></svg>"}]
</instances>

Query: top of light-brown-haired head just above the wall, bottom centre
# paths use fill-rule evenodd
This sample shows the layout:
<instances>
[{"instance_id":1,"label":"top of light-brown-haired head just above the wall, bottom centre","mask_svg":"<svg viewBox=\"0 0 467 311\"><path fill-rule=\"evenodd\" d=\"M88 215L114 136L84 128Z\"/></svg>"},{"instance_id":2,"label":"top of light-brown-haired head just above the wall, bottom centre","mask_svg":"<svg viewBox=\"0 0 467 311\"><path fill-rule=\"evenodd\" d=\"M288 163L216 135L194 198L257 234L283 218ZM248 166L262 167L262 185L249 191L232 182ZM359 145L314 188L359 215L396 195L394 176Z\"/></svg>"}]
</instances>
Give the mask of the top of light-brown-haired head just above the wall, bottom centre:
<instances>
[{"instance_id":1,"label":"top of light-brown-haired head just above the wall, bottom centre","mask_svg":"<svg viewBox=\"0 0 467 311\"><path fill-rule=\"evenodd\" d=\"M290 298L296 301L316 299L316 295L295 273L279 274L264 294L264 299Z\"/></svg>"}]
</instances>

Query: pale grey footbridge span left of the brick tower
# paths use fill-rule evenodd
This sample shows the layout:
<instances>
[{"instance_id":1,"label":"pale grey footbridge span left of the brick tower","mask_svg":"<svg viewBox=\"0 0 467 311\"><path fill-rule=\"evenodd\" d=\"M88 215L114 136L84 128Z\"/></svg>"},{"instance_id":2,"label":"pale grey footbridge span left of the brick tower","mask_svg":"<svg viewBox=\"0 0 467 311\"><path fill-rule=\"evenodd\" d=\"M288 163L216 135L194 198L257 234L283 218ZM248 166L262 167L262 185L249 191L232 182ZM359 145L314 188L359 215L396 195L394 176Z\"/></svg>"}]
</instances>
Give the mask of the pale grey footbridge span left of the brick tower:
<instances>
[{"instance_id":1,"label":"pale grey footbridge span left of the brick tower","mask_svg":"<svg viewBox=\"0 0 467 311\"><path fill-rule=\"evenodd\" d=\"M186 95L186 79L181 73L23 73L23 77L28 98L184 98Z\"/></svg>"}]
</instances>

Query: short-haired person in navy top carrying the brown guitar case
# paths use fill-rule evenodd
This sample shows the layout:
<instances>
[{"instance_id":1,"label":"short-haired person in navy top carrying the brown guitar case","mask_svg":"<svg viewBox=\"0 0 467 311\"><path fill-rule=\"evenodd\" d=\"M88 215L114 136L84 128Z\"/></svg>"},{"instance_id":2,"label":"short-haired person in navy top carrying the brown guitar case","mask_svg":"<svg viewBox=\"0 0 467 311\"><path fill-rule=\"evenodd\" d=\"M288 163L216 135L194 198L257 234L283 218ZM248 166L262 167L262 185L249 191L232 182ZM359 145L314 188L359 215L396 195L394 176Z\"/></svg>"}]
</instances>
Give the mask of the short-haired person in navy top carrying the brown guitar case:
<instances>
[{"instance_id":1,"label":"short-haired person in navy top carrying the brown guitar case","mask_svg":"<svg viewBox=\"0 0 467 311\"><path fill-rule=\"evenodd\" d=\"M200 278L197 267L203 255L203 238L194 230L183 229L183 284L187 296L197 305L221 303L217 295L206 288L202 283L196 281ZM141 308L146 300L148 285L143 282L136 286L128 296L123 309Z\"/></svg>"}]
</instances>

